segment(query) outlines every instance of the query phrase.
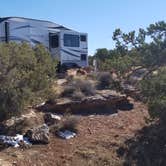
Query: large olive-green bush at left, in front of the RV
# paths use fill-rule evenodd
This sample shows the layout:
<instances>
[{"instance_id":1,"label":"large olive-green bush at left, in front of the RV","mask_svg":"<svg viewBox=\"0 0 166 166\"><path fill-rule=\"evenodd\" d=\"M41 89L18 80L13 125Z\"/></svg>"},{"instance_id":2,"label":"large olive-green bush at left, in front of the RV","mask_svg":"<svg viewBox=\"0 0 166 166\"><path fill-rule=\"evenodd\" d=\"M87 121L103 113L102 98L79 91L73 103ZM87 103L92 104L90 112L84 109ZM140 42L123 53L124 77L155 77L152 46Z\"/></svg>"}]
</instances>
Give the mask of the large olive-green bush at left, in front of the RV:
<instances>
[{"instance_id":1,"label":"large olive-green bush at left, in front of the RV","mask_svg":"<svg viewBox=\"0 0 166 166\"><path fill-rule=\"evenodd\" d=\"M0 44L0 117L21 113L46 99L55 76L55 63L41 45Z\"/></svg>"}]
</instances>

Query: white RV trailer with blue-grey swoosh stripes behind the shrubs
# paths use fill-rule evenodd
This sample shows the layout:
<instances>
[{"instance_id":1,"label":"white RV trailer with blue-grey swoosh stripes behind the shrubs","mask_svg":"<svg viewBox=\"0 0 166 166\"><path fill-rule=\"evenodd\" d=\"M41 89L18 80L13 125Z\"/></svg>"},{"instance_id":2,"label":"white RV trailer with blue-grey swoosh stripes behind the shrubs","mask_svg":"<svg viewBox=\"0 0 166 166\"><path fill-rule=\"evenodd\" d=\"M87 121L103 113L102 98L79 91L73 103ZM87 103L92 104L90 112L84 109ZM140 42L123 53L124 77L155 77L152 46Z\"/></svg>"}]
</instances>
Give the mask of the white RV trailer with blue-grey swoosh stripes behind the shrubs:
<instances>
[{"instance_id":1,"label":"white RV trailer with blue-grey swoosh stripes behind the shrubs","mask_svg":"<svg viewBox=\"0 0 166 166\"><path fill-rule=\"evenodd\" d=\"M43 44L62 64L88 65L87 34L43 20L21 17L0 18L0 42Z\"/></svg>"}]
</instances>

